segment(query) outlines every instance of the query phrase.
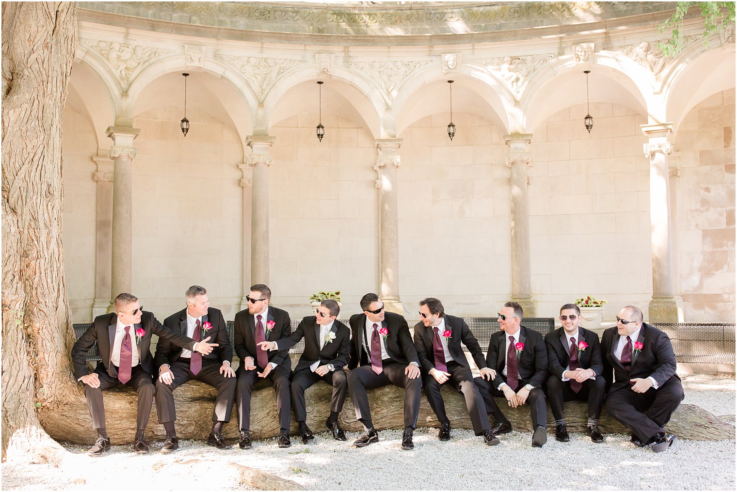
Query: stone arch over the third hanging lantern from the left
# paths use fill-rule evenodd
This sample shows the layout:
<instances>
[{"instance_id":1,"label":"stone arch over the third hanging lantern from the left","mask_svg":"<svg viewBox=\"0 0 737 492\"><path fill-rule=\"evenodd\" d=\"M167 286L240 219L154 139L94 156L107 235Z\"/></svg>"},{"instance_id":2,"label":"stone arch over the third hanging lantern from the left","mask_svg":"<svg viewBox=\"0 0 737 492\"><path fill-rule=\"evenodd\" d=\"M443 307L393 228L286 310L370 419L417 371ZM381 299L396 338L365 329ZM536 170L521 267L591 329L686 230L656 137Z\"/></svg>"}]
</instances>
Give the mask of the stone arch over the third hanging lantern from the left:
<instances>
[{"instance_id":1,"label":"stone arch over the third hanging lantern from the left","mask_svg":"<svg viewBox=\"0 0 737 492\"><path fill-rule=\"evenodd\" d=\"M447 83L445 83L442 89L437 88L438 82L447 82L447 80L454 80L453 82L453 110L456 110L455 106L455 94L459 96L463 94L461 87L469 88L481 99L486 102L488 107L498 117L497 123L500 124L507 133L510 133L514 128L514 121L518 119L516 108L514 107L514 98L511 97L509 89L500 84L500 82L492 77L488 72L483 70L481 67L472 65L461 65L458 67L457 72L443 74L439 69L439 66L431 66L417 74L410 77L405 83L399 88L399 94L397 99L394 100L393 110L397 114L397 134L408 127L410 124L415 122L417 119L427 116L433 112L438 112L433 109L436 108L434 105L425 105L425 108L419 108L418 105L422 102L422 94L425 93L425 89L434 87L431 89L434 91L440 91L444 94L444 98L441 102L442 112L450 109L450 97ZM466 108L461 109L458 106L458 110L467 110L470 113L477 113L479 116L488 118L487 114L478 113L480 108ZM430 111L430 112L428 112Z\"/></svg>"}]
</instances>

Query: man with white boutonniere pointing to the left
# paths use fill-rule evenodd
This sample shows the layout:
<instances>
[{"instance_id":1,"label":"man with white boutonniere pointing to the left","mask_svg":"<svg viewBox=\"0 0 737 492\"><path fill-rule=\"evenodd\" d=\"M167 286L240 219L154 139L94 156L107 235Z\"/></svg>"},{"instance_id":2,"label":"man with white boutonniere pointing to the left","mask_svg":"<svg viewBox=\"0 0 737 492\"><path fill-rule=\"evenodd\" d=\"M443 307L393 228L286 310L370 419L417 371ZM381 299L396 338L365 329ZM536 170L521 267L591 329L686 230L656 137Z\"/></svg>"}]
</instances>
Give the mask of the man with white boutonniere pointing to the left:
<instances>
[{"instance_id":1,"label":"man with white boutonniere pointing to the left","mask_svg":"<svg viewBox=\"0 0 737 492\"><path fill-rule=\"evenodd\" d=\"M332 385L330 415L325 422L335 440L346 440L343 429L338 425L338 414L343 410L348 381L343 366L348 364L351 351L351 330L337 318L340 306L332 299L320 303L316 316L306 316L289 337L275 342L259 342L263 350L289 350L304 338L304 352L299 357L292 373L292 409L299 426L302 442L314 439L307 426L307 406L304 392L322 379Z\"/></svg>"}]
</instances>

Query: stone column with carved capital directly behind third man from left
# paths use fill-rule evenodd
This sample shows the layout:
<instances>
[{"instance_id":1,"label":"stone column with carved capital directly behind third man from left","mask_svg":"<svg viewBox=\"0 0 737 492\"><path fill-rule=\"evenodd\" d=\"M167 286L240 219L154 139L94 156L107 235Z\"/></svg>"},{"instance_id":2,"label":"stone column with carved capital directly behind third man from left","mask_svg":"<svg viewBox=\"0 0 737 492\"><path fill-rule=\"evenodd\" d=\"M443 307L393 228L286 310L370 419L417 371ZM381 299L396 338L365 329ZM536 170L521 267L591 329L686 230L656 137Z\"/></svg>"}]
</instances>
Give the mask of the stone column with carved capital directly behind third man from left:
<instances>
[{"instance_id":1,"label":"stone column with carved capital directly behind third man from left","mask_svg":"<svg viewBox=\"0 0 737 492\"><path fill-rule=\"evenodd\" d=\"M274 158L269 147L276 137L249 135L245 144L254 151L245 160L253 168L251 178L251 287L269 284L269 166ZM245 287L243 297L248 295ZM241 301L241 305L243 305Z\"/></svg>"}]
</instances>

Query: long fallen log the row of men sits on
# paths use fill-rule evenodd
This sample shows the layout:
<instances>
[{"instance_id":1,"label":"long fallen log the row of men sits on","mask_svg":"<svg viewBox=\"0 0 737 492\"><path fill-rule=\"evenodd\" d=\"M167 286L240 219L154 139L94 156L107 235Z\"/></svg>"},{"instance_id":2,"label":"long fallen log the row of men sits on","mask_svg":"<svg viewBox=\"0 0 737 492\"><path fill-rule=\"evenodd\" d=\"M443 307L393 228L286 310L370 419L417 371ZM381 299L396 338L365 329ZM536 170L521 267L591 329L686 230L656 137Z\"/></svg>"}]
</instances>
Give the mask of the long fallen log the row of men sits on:
<instances>
[{"instance_id":1,"label":"long fallen log the row of men sits on","mask_svg":"<svg viewBox=\"0 0 737 492\"><path fill-rule=\"evenodd\" d=\"M217 391L207 384L192 381L175 390L175 404L177 409L177 433L180 439L205 440L212 427L212 407ZM113 444L133 442L136 429L136 393L128 387L119 386L113 390L103 392L105 398L105 413L107 414L108 435ZM307 425L312 432L325 432L325 421L329 415L332 387L318 382L305 393L307 400ZM471 429L471 419L466 409L466 403L461 393L445 385L442 390L445 408L450 424L455 429ZM402 429L404 390L394 385L368 390L371 403L371 416L377 429ZM82 401L84 403L84 401ZM511 408L506 405L504 398L497 398L497 404L504 412L515 430L532 432L530 407ZM76 444L94 443L96 435L92 429L90 417L84 404L64 408L56 408L57 419L63 421L68 418L76 421L80 429L77 437L72 441ZM58 415L61 414L61 415ZM587 421L587 404L585 401L569 401L565 404L565 418L570 432L585 432ZM340 413L340 426L346 431L360 432L363 426L355 418L350 395L346 398L343 412ZM493 422L492 422L493 424ZM425 395L420 403L418 427L439 427L439 423ZM626 429L615 421L606 410L601 414L599 427L604 434L626 434ZM553 415L548 409L548 429L555 429ZM701 407L690 404L681 404L673 413L671 421L666 427L682 439L691 440L723 440L735 438L735 427L710 414ZM292 419L292 435L298 435L297 426ZM62 440L62 436L52 437ZM68 440L68 433L66 438ZM147 437L153 440L164 440L164 427L158 424L156 406L153 407ZM226 439L235 440L238 437L237 414L234 406L231 423L223 428ZM254 387L251 400L251 436L255 439L266 439L279 435L279 416L276 412L276 395L270 382L263 381Z\"/></svg>"}]
</instances>

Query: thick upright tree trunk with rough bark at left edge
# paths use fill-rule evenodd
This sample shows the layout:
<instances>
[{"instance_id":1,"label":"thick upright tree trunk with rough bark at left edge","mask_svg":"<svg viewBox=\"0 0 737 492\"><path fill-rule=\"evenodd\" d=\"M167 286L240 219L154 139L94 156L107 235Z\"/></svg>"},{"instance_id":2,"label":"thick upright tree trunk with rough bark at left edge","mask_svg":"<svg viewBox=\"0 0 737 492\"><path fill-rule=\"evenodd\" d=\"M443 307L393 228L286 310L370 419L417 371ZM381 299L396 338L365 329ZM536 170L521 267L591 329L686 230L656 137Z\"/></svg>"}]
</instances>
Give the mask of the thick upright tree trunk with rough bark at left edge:
<instances>
[{"instance_id":1,"label":"thick upright tree trunk with rough bark at left edge","mask_svg":"<svg viewBox=\"0 0 737 492\"><path fill-rule=\"evenodd\" d=\"M61 236L61 123L77 49L74 2L2 4L2 458L62 448L36 408L81 390Z\"/></svg>"}]
</instances>

